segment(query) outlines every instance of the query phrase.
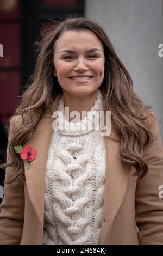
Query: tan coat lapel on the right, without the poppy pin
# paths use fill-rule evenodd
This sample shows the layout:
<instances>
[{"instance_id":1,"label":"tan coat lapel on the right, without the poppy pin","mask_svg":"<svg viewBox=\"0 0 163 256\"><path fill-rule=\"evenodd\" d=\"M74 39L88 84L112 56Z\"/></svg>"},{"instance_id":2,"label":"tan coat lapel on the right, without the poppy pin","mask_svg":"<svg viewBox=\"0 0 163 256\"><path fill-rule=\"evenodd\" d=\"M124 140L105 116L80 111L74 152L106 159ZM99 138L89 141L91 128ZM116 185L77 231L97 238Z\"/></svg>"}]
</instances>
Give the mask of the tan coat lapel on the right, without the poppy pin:
<instances>
[{"instance_id":1,"label":"tan coat lapel on the right, without the poppy pin","mask_svg":"<svg viewBox=\"0 0 163 256\"><path fill-rule=\"evenodd\" d=\"M106 175L101 226L101 245L107 244L111 226L120 209L130 176L130 168L124 166L120 160L119 141L116 141L113 137L114 136L110 135L110 137L105 138Z\"/></svg>"}]
</instances>

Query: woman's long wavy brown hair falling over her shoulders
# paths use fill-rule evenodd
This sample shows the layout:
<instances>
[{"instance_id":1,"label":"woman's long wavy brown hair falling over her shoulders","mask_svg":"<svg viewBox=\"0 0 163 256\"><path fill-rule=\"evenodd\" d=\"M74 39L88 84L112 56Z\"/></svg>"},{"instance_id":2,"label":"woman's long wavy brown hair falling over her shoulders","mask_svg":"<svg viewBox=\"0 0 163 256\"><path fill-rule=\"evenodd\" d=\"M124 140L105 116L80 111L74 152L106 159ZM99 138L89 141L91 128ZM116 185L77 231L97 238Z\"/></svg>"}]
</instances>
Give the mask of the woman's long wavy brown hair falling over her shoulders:
<instances>
[{"instance_id":1,"label":"woman's long wavy brown hair falling over her shoulders","mask_svg":"<svg viewBox=\"0 0 163 256\"><path fill-rule=\"evenodd\" d=\"M142 158L143 149L152 142L152 133L143 125L142 120L149 117L151 106L144 105L133 91L133 81L118 58L108 35L98 23L85 17L70 17L55 23L48 33L37 43L39 54L30 84L25 87L19 105L12 115L21 115L22 124L14 130L8 141L11 163L1 164L1 168L12 167L12 181L25 179L24 164L15 145L25 145L33 135L43 114L49 110L55 97L62 88L54 77L53 53L55 41L65 31L83 31L89 29L101 40L104 46L104 80L99 87L103 95L105 110L111 111L111 125L120 141L120 157L123 163L135 167L137 181L148 171L148 165ZM26 116L26 118L24 118ZM9 123L11 118L9 118ZM7 126L9 135L9 124ZM9 183L10 183L9 182Z\"/></svg>"}]
</instances>

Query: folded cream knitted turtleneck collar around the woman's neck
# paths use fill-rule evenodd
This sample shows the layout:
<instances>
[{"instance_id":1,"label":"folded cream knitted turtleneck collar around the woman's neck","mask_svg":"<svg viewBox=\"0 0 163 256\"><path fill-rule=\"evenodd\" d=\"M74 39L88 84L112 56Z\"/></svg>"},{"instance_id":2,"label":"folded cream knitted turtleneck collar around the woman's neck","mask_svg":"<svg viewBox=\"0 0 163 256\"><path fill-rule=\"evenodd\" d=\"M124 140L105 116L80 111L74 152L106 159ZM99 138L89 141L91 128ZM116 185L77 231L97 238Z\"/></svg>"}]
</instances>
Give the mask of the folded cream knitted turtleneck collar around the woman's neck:
<instances>
[{"instance_id":1,"label":"folded cream knitted turtleneck collar around the woman's neck","mask_svg":"<svg viewBox=\"0 0 163 256\"><path fill-rule=\"evenodd\" d=\"M100 114L97 114L97 112L103 111L103 109L103 96L101 91L98 89L97 99L91 110L87 111L85 118L77 123L73 123L72 121L68 122L65 119L64 95L62 95L57 109L57 111L59 111L59 118L54 121L55 130L58 130L62 135L85 135L86 133L94 130L96 125L99 126L98 117L100 117Z\"/></svg>"}]
</instances>

